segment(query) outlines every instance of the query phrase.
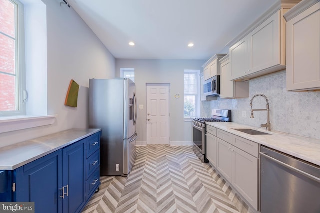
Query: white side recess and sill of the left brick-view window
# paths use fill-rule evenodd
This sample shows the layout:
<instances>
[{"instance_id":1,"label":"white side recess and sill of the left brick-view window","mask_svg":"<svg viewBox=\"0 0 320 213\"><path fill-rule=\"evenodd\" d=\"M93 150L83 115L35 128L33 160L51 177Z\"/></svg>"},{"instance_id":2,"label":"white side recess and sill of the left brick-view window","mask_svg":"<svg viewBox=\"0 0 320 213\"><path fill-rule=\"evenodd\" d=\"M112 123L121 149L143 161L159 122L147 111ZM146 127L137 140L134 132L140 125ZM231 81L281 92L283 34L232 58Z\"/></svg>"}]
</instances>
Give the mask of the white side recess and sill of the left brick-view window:
<instances>
[{"instance_id":1,"label":"white side recess and sill of the left brick-view window","mask_svg":"<svg viewBox=\"0 0 320 213\"><path fill-rule=\"evenodd\" d=\"M46 4L42 0L20 0L20 4L25 5L23 10L20 7L19 14L25 18L23 21L25 29L23 31L20 29L20 32L21 35L25 35L21 42L24 43L28 55L27 61L22 64L25 70L23 83L28 85L28 97L25 103L25 114L12 116L1 116L0 114L0 133L50 125L54 123L57 116L47 114ZM25 42L25 39L28 42ZM27 44L32 44L32 46L28 47ZM20 52L24 53L24 51ZM24 55L23 57L25 58ZM27 69L27 67L32 67L32 69ZM37 81L32 81L32 79L37 79Z\"/></svg>"}]
</instances>

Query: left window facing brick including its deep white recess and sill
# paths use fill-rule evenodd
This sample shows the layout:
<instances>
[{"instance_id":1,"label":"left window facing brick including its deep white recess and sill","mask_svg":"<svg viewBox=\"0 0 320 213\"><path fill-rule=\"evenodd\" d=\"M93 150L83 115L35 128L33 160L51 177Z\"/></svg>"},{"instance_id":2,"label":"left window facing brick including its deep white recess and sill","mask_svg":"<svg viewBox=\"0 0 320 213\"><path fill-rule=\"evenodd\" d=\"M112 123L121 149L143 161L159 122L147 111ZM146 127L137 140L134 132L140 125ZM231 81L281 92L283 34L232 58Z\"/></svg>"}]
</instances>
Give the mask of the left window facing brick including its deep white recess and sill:
<instances>
[{"instance_id":1,"label":"left window facing brick including its deep white recess and sill","mask_svg":"<svg viewBox=\"0 0 320 213\"><path fill-rule=\"evenodd\" d=\"M12 5L14 13L12 13ZM7 17L7 13L14 14L11 16L14 17L14 19L11 18L13 21L4 18ZM56 115L47 114L46 17L46 4L42 0L0 0L0 104L10 102L7 100L8 96L5 96L8 92L3 90L5 83L14 85L14 90L18 92L14 91L11 94L14 94L14 99L17 99L20 104L19 110L2 109L0 106L0 133L45 126L55 121ZM1 51L4 46L2 42L7 38L5 34L8 34L4 24L14 26L15 36L11 36L15 39L14 63L12 63L14 64L14 81L3 80L4 75L8 73L4 71L4 67L9 67L4 57L5 52Z\"/></svg>"}]
</instances>

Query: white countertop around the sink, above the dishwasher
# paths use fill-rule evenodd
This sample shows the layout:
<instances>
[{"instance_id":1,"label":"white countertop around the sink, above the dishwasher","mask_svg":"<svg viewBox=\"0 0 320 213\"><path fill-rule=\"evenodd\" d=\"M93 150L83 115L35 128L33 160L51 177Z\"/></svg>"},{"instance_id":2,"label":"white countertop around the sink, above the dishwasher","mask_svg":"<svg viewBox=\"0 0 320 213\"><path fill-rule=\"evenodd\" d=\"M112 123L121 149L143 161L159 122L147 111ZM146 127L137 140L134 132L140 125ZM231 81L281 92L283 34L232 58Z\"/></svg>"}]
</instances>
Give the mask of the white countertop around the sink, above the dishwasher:
<instances>
[{"instance_id":1,"label":"white countertop around the sink, above the dishwasher","mask_svg":"<svg viewBox=\"0 0 320 213\"><path fill-rule=\"evenodd\" d=\"M266 128L256 128L234 122L208 122L206 124L313 164L320 165L320 140L283 132L266 131ZM235 129L254 129L269 133L270 135L250 135Z\"/></svg>"}]
</instances>

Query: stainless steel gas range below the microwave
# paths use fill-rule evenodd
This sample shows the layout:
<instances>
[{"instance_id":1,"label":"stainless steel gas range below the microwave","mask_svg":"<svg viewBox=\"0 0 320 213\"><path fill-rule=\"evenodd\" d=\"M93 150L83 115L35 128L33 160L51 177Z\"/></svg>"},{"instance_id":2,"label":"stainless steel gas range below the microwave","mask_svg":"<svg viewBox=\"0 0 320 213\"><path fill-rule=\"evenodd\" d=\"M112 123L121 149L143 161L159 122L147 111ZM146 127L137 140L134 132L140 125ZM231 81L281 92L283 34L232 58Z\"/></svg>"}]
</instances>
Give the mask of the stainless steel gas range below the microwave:
<instances>
[{"instance_id":1,"label":"stainless steel gas range below the microwave","mask_svg":"<svg viewBox=\"0 0 320 213\"><path fill-rule=\"evenodd\" d=\"M206 158L206 122L227 122L231 121L231 110L213 109L210 118L194 118L193 126L193 151L202 162L209 162Z\"/></svg>"}]
</instances>

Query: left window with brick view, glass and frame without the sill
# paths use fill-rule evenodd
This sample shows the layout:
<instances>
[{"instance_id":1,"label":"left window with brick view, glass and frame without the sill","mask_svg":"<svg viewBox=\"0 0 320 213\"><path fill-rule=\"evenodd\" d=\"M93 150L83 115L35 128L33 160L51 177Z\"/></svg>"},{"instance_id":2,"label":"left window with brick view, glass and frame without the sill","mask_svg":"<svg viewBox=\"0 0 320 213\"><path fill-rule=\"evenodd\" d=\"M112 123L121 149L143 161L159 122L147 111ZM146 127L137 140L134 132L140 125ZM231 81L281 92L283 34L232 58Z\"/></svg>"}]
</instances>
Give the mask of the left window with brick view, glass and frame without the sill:
<instances>
[{"instance_id":1,"label":"left window with brick view, glass and frame without the sill","mask_svg":"<svg viewBox=\"0 0 320 213\"><path fill-rule=\"evenodd\" d=\"M25 114L23 23L23 4L0 0L0 116Z\"/></svg>"}]
</instances>

